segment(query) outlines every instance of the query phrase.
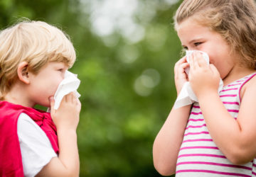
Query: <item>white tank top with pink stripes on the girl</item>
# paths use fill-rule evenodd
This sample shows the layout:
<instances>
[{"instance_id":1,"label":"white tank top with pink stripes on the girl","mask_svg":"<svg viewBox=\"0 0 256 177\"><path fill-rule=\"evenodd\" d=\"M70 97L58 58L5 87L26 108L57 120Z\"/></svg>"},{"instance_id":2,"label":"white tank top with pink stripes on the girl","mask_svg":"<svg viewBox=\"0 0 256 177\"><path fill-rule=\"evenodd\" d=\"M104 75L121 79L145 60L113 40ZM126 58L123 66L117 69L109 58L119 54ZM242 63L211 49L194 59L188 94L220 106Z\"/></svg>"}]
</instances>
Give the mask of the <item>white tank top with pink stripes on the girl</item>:
<instances>
[{"instance_id":1,"label":"white tank top with pink stripes on the girl","mask_svg":"<svg viewBox=\"0 0 256 177\"><path fill-rule=\"evenodd\" d=\"M219 95L233 118L238 117L240 89L256 73L224 86ZM255 176L256 159L243 165L233 165L210 137L198 103L193 103L183 142L178 153L176 177Z\"/></svg>"}]
</instances>

